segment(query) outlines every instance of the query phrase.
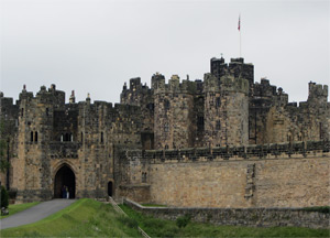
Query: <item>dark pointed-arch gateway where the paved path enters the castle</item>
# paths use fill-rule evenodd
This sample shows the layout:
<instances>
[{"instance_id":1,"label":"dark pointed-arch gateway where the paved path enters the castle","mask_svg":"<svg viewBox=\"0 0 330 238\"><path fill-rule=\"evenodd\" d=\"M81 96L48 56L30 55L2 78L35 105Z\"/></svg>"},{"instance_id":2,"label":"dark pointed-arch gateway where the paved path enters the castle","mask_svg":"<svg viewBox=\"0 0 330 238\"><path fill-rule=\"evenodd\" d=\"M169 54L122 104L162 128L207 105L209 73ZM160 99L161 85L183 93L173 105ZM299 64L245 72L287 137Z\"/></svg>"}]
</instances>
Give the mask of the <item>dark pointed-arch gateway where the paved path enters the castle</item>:
<instances>
[{"instance_id":1,"label":"dark pointed-arch gateway where the paved path enters the castle","mask_svg":"<svg viewBox=\"0 0 330 238\"><path fill-rule=\"evenodd\" d=\"M67 164L64 164L55 175L54 198L63 197L64 186L66 186L69 191L69 198L75 198L76 176L73 170Z\"/></svg>"}]
</instances>

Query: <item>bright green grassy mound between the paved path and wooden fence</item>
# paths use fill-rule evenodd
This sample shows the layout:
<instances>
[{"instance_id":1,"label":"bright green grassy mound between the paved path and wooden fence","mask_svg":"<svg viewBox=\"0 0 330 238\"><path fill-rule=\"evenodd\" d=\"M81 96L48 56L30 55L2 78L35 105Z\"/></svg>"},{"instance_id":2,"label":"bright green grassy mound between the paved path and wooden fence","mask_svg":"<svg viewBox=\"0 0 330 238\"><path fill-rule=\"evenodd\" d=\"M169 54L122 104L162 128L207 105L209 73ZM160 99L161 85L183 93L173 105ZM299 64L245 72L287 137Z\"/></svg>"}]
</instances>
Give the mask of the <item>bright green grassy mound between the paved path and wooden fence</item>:
<instances>
[{"instance_id":1,"label":"bright green grassy mound between the paved path and wooden fence","mask_svg":"<svg viewBox=\"0 0 330 238\"><path fill-rule=\"evenodd\" d=\"M37 223L1 230L1 237L141 237L136 227L110 204L84 198Z\"/></svg>"}]
</instances>

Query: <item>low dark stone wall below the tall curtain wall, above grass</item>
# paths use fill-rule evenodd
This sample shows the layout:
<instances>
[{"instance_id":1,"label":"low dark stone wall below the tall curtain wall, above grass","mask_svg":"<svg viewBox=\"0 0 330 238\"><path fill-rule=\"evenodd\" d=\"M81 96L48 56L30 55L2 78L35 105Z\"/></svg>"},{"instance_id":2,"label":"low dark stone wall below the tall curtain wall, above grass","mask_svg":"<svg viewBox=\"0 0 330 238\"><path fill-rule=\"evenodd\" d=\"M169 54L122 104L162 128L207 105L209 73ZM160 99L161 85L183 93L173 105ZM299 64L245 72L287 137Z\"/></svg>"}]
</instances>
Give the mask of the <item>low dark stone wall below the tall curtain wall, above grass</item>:
<instances>
[{"instance_id":1,"label":"low dark stone wall below the tall curtain wall, above grass","mask_svg":"<svg viewBox=\"0 0 330 238\"><path fill-rule=\"evenodd\" d=\"M330 228L330 214L306 212L301 208L143 207L130 199L124 199L123 203L145 215L170 220L189 215L194 221L215 225Z\"/></svg>"}]
</instances>

